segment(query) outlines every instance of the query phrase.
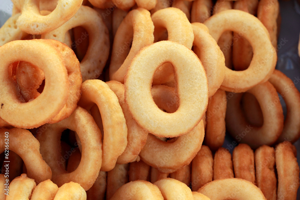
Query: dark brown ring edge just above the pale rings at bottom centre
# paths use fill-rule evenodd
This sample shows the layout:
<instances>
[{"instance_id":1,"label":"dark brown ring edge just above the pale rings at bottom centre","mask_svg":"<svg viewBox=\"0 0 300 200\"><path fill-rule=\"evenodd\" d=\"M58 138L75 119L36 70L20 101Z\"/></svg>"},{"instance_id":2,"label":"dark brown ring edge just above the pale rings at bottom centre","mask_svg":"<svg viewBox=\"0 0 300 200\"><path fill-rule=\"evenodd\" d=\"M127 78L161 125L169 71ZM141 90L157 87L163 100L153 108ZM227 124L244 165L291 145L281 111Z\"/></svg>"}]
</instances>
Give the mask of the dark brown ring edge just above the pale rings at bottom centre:
<instances>
[{"instance_id":1,"label":"dark brown ring edge just above the pale rings at bottom centre","mask_svg":"<svg viewBox=\"0 0 300 200\"><path fill-rule=\"evenodd\" d=\"M150 166L142 160L130 163L128 177L129 182L137 180L150 181Z\"/></svg>"}]
</instances>

